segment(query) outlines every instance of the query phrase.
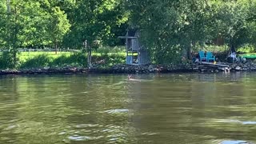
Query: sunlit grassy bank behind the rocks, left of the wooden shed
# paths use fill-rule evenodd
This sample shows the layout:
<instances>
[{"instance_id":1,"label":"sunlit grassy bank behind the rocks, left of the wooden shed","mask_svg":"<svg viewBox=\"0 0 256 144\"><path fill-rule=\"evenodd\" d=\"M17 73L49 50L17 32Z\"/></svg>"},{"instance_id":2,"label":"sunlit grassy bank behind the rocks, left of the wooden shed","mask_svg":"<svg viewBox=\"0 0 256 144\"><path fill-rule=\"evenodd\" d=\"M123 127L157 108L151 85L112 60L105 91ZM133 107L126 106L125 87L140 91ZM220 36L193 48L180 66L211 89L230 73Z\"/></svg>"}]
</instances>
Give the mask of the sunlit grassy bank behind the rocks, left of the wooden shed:
<instances>
[{"instance_id":1,"label":"sunlit grassy bank behind the rocks, left of the wooden shed","mask_svg":"<svg viewBox=\"0 0 256 144\"><path fill-rule=\"evenodd\" d=\"M126 53L98 53L92 54L93 65L112 66L124 63ZM87 57L82 52L20 52L16 65L12 63L12 57L8 52L3 52L0 58L0 69L26 69L46 66L81 66L86 67Z\"/></svg>"}]
</instances>

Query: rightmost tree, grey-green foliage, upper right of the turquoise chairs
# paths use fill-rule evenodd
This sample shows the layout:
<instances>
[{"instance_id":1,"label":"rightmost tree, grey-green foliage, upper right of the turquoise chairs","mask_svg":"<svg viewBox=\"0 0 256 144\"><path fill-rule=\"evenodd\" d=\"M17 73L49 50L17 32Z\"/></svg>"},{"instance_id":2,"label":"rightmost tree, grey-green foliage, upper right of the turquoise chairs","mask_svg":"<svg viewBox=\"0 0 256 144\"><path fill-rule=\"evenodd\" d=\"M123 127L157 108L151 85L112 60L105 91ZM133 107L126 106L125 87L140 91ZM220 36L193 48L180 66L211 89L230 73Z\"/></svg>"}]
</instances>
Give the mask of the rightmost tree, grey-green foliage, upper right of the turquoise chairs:
<instances>
[{"instance_id":1,"label":"rightmost tree, grey-green foliage, upper right of the turquoise chairs","mask_svg":"<svg viewBox=\"0 0 256 144\"><path fill-rule=\"evenodd\" d=\"M246 38L246 18L248 4L245 1L216 1L213 2L215 9L215 30L222 35L228 45L238 46L241 38Z\"/></svg>"}]
</instances>

